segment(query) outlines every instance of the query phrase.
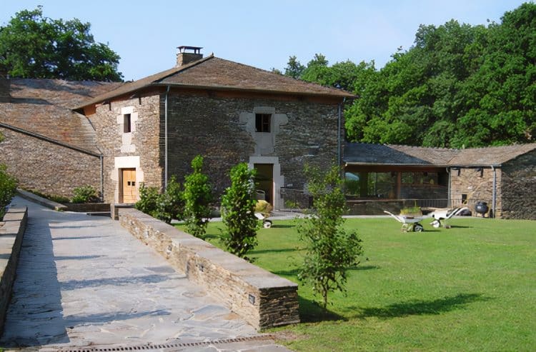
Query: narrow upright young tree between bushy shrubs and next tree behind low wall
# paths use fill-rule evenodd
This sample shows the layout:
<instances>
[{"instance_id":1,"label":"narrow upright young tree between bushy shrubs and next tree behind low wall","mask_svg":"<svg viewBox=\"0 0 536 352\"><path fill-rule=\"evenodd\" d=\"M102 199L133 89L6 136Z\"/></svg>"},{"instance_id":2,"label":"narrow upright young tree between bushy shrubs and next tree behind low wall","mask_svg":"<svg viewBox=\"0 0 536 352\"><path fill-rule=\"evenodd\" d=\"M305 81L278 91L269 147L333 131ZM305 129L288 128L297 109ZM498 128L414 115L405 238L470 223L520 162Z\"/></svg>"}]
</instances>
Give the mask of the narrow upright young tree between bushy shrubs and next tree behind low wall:
<instances>
[{"instance_id":1,"label":"narrow upright young tree between bushy shrubs and next tree behind low wall","mask_svg":"<svg viewBox=\"0 0 536 352\"><path fill-rule=\"evenodd\" d=\"M203 157L198 155L192 160L192 174L184 181L184 221L188 233L204 238L207 232L213 200L209 176L202 173Z\"/></svg>"}]
</instances>

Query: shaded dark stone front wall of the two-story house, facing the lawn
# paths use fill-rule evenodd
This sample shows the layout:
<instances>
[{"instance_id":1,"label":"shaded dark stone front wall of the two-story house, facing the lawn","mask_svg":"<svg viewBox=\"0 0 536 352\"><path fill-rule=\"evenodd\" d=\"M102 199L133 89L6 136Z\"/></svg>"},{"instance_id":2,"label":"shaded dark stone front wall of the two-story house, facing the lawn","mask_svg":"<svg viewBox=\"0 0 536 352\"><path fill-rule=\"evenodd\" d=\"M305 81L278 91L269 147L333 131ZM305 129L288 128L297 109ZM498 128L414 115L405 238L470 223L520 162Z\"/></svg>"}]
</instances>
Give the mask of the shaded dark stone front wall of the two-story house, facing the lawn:
<instances>
[{"instance_id":1,"label":"shaded dark stone front wall of the two-story house, facing the lawn","mask_svg":"<svg viewBox=\"0 0 536 352\"><path fill-rule=\"evenodd\" d=\"M229 170L254 156L254 139L240 115L274 108L288 121L279 126L274 151L286 188L302 189L305 163L327 167L337 162L337 104L171 94L169 98L169 174L191 172L190 161L205 157L205 170L217 194L229 186Z\"/></svg>"}]
</instances>

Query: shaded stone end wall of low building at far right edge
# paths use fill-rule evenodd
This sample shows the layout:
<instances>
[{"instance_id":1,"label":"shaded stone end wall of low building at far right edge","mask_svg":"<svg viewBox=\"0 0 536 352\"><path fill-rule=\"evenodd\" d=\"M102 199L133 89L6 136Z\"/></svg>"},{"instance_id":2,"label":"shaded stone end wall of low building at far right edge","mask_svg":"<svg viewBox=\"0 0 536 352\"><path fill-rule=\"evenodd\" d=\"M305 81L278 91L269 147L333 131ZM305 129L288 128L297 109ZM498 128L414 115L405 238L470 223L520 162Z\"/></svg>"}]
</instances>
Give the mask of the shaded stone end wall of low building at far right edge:
<instances>
[{"instance_id":1,"label":"shaded stone end wall of low building at far right edge","mask_svg":"<svg viewBox=\"0 0 536 352\"><path fill-rule=\"evenodd\" d=\"M502 165L502 218L536 220L536 151Z\"/></svg>"}]
</instances>

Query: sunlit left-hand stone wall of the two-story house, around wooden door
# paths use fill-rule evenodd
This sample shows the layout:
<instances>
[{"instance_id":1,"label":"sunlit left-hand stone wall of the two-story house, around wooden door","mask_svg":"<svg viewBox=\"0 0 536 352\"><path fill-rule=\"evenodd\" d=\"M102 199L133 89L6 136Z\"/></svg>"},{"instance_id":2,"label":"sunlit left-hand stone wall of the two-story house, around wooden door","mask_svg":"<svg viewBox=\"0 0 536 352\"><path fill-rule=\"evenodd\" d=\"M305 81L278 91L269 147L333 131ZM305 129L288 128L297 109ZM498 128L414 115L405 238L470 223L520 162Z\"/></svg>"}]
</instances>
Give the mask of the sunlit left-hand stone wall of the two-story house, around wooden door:
<instances>
[{"instance_id":1,"label":"sunlit left-hand stone wall of the two-story house, around wooden door","mask_svg":"<svg viewBox=\"0 0 536 352\"><path fill-rule=\"evenodd\" d=\"M136 168L137 178L146 186L162 188L163 149L159 147L161 136L161 99L158 93L135 97L122 101L112 101L96 107L96 113L88 118L96 131L97 145L104 155L104 201L117 203L119 199L118 160L126 160L122 165ZM137 115L132 122L133 130L125 138L123 114L131 111ZM139 164L128 164L139 157ZM133 166L128 166L133 165ZM137 184L139 186L139 183Z\"/></svg>"}]
</instances>

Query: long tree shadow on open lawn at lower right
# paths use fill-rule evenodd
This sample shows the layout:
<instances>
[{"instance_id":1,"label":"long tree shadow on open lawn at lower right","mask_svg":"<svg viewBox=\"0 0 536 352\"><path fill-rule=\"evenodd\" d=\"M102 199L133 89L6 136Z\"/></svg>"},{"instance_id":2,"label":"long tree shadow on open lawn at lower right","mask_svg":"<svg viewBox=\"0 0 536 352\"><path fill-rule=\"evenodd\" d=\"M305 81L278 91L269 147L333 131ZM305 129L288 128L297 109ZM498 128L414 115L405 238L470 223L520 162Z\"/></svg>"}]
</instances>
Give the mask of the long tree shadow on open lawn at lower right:
<instances>
[{"instance_id":1,"label":"long tree shadow on open lawn at lower right","mask_svg":"<svg viewBox=\"0 0 536 352\"><path fill-rule=\"evenodd\" d=\"M463 308L469 303L489 301L491 298L480 293L460 293L456 296L438 298L432 301L407 301L390 304L382 308L364 308L357 318L399 318L402 316L420 316L424 314L440 314Z\"/></svg>"}]
</instances>

